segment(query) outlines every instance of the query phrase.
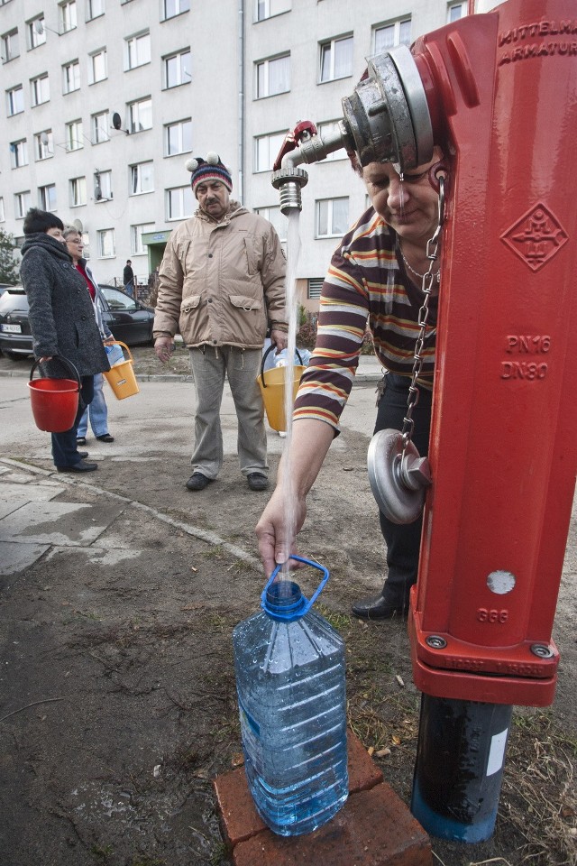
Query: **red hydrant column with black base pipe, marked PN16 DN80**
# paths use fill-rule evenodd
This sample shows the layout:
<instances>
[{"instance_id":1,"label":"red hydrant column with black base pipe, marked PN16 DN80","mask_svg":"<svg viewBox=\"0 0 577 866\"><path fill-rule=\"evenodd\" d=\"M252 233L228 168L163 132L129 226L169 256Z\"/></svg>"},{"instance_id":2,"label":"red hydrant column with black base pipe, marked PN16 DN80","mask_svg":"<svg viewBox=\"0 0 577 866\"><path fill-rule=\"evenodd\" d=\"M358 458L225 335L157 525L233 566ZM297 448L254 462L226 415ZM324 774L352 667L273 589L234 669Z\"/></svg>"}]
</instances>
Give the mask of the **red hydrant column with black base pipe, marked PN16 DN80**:
<instances>
[{"instance_id":1,"label":"red hydrant column with black base pipe, marked PN16 DN80","mask_svg":"<svg viewBox=\"0 0 577 866\"><path fill-rule=\"evenodd\" d=\"M449 161L434 414L409 633L412 808L492 833L511 705L549 705L577 467L577 9L508 0L417 41Z\"/></svg>"}]
</instances>

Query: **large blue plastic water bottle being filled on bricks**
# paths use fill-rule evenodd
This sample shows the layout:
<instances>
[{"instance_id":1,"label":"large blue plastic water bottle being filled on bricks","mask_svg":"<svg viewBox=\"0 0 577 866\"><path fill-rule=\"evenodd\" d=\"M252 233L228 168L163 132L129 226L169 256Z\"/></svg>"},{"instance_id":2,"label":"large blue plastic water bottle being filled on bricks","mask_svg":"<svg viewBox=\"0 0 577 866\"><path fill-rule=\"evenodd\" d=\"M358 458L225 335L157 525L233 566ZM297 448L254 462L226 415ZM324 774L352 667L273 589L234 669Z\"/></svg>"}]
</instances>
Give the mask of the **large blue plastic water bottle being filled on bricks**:
<instances>
[{"instance_id":1,"label":"large blue plastic water bottle being filled on bricks","mask_svg":"<svg viewBox=\"0 0 577 866\"><path fill-rule=\"evenodd\" d=\"M291 580L270 576L259 613L233 632L244 767L262 820L282 836L312 833L348 796L344 645Z\"/></svg>"}]
</instances>

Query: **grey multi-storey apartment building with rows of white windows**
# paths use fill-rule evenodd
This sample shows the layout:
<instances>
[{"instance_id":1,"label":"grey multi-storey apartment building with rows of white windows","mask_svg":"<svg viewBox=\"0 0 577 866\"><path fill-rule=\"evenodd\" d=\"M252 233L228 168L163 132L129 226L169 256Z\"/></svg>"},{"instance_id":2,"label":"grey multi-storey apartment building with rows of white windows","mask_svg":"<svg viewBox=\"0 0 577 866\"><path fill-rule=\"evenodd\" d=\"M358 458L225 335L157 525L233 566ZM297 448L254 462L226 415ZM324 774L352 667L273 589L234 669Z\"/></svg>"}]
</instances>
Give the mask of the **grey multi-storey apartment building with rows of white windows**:
<instances>
[{"instance_id":1,"label":"grey multi-storey apartment building with rows of white windows","mask_svg":"<svg viewBox=\"0 0 577 866\"><path fill-rule=\"evenodd\" d=\"M270 185L289 128L331 129L366 58L466 0L0 0L0 226L38 206L78 226L99 281L140 281L196 209L185 162L216 151L234 198L286 238ZM308 167L299 297L314 308L366 197L344 152Z\"/></svg>"}]
</instances>

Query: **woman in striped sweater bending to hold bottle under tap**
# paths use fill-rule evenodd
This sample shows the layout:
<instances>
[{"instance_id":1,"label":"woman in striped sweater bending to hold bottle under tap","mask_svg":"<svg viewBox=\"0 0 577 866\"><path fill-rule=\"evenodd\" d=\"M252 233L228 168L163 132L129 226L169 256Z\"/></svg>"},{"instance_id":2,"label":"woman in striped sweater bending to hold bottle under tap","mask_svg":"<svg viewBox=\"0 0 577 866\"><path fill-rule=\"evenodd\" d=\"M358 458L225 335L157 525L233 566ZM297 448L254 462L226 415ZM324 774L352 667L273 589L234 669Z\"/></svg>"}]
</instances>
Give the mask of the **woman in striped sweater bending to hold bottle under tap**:
<instances>
[{"instance_id":1,"label":"woman in striped sweater bending to hold bottle under tap","mask_svg":"<svg viewBox=\"0 0 577 866\"><path fill-rule=\"evenodd\" d=\"M427 241L438 226L438 193L431 179L442 159L433 159L403 179L389 162L353 168L364 180L371 207L344 236L331 261L321 292L316 346L303 374L295 402L290 448L296 525L289 527L282 470L256 533L268 575L295 550L295 539L307 515L307 493L316 480L347 401L359 362L367 318L375 352L385 368L374 432L403 428L408 388L423 306L423 276L429 270ZM435 335L440 273L431 264L433 290L426 320L423 364L413 410L412 441L421 456L428 450L431 421ZM352 519L353 516L352 516ZM387 579L375 597L353 604L353 613L366 619L389 619L408 612L410 587L417 580L422 518L398 525L380 513L380 529L387 543Z\"/></svg>"}]
</instances>

